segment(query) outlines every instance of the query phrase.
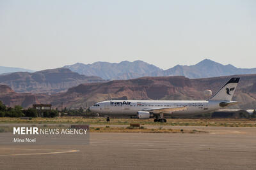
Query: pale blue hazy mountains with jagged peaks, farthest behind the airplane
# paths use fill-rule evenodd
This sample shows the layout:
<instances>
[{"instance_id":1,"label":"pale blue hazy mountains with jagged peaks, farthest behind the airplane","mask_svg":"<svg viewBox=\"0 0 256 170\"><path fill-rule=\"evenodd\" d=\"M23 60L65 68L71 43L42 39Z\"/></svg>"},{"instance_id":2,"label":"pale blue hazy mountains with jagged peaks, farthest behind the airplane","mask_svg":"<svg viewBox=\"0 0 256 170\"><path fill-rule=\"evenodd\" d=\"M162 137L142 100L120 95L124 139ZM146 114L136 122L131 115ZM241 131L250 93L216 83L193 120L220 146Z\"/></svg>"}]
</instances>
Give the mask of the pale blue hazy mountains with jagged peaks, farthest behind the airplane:
<instances>
[{"instance_id":1,"label":"pale blue hazy mountains with jagged peaks, farthest behind the airplane","mask_svg":"<svg viewBox=\"0 0 256 170\"><path fill-rule=\"evenodd\" d=\"M64 67L86 76L99 76L104 80L128 80L131 78L139 78L143 76L186 76L188 78L209 78L216 76L228 76L233 74L256 73L256 68L242 69L232 66L231 64L223 65L209 59L202 60L195 65L177 65L166 70L141 60L136 60L134 62L123 61L119 63L76 63L74 65Z\"/></svg>"}]
</instances>

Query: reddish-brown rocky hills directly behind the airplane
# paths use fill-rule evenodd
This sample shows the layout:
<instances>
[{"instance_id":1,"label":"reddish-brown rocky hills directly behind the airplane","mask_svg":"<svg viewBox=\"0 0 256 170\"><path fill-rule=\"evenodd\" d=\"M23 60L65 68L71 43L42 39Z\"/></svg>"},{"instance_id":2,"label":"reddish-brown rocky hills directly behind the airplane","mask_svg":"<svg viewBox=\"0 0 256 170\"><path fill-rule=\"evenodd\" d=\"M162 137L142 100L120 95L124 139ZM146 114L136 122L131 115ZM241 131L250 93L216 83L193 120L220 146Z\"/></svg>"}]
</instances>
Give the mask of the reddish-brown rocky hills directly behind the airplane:
<instances>
[{"instance_id":1,"label":"reddish-brown rocky hills directly behind the airplane","mask_svg":"<svg viewBox=\"0 0 256 170\"><path fill-rule=\"evenodd\" d=\"M159 100L204 100L205 89L211 89L213 94L217 92L232 76L215 78L189 79L184 76L168 77L143 77L132 80L113 80L101 83L84 83L72 87L67 92L50 95L43 94L19 94L20 96L35 96L20 99L22 106L32 106L33 103L51 103L54 107L61 108L61 103L67 108L85 108L94 103L110 99L159 99ZM234 101L239 104L232 108L255 109L256 108L256 74L239 75L241 81L237 86ZM7 91L4 93L4 91ZM17 101L12 89L1 90L0 100L13 106L12 101ZM15 92L14 92L15 93ZM16 94L17 95L17 94ZM5 97L5 98L4 98ZM26 104L24 104L26 103Z\"/></svg>"}]
</instances>

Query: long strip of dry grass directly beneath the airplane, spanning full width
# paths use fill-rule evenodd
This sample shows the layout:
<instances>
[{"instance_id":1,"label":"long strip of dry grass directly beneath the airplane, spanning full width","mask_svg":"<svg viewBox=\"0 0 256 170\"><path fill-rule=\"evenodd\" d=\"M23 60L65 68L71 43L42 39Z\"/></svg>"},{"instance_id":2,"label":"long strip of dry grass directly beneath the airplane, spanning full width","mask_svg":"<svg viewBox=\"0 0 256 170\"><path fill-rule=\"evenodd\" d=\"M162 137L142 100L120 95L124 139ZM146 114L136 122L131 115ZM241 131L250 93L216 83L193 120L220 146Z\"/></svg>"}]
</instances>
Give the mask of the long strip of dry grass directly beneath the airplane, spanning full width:
<instances>
[{"instance_id":1,"label":"long strip of dry grass directly beneath the airplane, spanning full width","mask_svg":"<svg viewBox=\"0 0 256 170\"><path fill-rule=\"evenodd\" d=\"M218 127L256 127L256 119L172 119L168 118L166 123L154 122L154 119L139 120L131 118L84 118L84 117L58 117L58 118L32 118L32 120L21 120L20 118L0 118L0 124L94 124L94 125L129 125L130 123L141 125L173 125L173 126L218 126Z\"/></svg>"}]
</instances>

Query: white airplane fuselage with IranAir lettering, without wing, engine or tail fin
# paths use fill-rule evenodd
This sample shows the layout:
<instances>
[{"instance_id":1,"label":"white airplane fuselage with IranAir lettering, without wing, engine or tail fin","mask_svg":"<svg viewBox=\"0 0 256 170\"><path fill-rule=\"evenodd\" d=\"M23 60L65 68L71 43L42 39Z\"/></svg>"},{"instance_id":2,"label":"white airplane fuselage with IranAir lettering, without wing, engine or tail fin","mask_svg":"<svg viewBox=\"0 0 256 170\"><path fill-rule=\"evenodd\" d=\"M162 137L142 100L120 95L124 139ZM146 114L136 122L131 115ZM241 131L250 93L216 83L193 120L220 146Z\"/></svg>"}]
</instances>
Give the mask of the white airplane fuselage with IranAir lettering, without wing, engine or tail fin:
<instances>
[{"instance_id":1,"label":"white airplane fuselage with IranAir lettering, without wing, engine or tail fin","mask_svg":"<svg viewBox=\"0 0 256 170\"><path fill-rule=\"evenodd\" d=\"M168 107L186 107L186 110L173 111L172 115L198 115L221 108L225 101L144 101L115 100L96 103L90 110L102 115L137 115L138 111Z\"/></svg>"}]
</instances>

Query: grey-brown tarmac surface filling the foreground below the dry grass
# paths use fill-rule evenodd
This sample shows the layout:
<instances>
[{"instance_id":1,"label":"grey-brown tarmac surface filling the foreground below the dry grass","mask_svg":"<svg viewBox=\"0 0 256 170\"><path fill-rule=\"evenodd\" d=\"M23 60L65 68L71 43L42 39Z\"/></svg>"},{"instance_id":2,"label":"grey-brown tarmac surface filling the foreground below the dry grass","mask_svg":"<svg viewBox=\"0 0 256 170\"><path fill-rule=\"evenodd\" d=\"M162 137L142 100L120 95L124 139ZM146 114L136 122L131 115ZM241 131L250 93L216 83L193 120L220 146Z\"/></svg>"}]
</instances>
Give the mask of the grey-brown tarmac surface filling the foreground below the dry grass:
<instances>
[{"instance_id":1,"label":"grey-brown tarmac surface filling the foreground below the dry grass","mask_svg":"<svg viewBox=\"0 0 256 170\"><path fill-rule=\"evenodd\" d=\"M208 133L90 133L90 145L0 143L0 169L256 169L256 128L164 128Z\"/></svg>"}]
</instances>

